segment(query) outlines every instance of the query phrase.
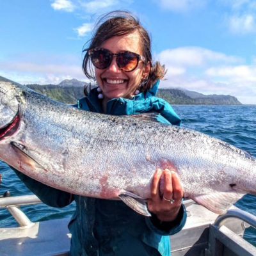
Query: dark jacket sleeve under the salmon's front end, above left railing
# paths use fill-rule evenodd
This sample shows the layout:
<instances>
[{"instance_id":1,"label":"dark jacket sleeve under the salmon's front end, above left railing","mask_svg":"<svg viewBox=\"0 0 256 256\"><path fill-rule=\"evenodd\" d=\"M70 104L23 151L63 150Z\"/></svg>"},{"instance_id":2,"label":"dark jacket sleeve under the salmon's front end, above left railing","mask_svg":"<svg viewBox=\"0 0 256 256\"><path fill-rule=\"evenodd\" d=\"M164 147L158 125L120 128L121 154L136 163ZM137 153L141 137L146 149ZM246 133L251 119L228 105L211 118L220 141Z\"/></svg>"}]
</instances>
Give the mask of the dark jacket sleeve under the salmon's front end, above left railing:
<instances>
[{"instance_id":1,"label":"dark jacket sleeve under the salmon's front end, above left railing","mask_svg":"<svg viewBox=\"0 0 256 256\"><path fill-rule=\"evenodd\" d=\"M12 168L12 166L10 166ZM17 176L22 182L26 185L26 187L33 192L44 204L47 204L52 207L65 207L70 204L74 200L74 196L65 191L61 191L59 189L51 188L41 182L38 182L34 179L31 179L27 175L15 170Z\"/></svg>"}]
</instances>

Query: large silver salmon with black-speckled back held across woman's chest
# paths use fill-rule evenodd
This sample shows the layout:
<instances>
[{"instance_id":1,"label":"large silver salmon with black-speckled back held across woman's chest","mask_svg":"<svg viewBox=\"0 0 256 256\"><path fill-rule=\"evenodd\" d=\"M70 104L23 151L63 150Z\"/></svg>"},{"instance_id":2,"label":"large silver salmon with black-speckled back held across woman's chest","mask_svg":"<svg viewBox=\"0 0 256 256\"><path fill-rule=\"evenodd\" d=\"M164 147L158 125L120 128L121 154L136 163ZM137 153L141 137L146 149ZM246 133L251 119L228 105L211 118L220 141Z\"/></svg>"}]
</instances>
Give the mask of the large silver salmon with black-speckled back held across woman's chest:
<instances>
[{"instance_id":1,"label":"large silver salmon with black-speckled back held across woman's chest","mask_svg":"<svg viewBox=\"0 0 256 256\"><path fill-rule=\"evenodd\" d=\"M145 215L157 168L179 173L184 197L219 214L244 194L255 194L256 161L250 154L148 118L154 115L82 111L1 81L0 158L54 188L120 199Z\"/></svg>"}]
</instances>

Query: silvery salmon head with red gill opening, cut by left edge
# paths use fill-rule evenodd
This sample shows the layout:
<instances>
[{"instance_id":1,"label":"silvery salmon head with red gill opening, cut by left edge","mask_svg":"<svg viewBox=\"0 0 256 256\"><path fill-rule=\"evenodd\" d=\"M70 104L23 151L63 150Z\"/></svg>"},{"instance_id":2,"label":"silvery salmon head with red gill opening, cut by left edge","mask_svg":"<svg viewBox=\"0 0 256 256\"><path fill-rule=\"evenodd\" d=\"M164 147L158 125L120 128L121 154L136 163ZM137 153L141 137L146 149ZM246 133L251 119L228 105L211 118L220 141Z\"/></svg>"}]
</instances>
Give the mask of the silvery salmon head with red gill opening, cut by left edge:
<instances>
[{"instance_id":1,"label":"silvery salmon head with red gill opening, cut by left edge","mask_svg":"<svg viewBox=\"0 0 256 256\"><path fill-rule=\"evenodd\" d=\"M19 98L15 84L0 82L0 140L17 128L20 111Z\"/></svg>"}]
</instances>

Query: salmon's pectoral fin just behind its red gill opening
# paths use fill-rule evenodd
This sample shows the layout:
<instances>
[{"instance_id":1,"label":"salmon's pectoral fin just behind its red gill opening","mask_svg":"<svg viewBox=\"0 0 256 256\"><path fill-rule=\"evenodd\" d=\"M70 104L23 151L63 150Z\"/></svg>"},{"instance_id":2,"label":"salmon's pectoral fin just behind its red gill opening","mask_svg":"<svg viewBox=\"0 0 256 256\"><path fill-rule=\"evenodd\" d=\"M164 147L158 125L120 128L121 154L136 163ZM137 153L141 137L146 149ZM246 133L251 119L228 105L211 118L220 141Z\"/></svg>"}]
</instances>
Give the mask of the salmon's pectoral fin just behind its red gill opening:
<instances>
[{"instance_id":1,"label":"salmon's pectoral fin just behind its red gill opening","mask_svg":"<svg viewBox=\"0 0 256 256\"><path fill-rule=\"evenodd\" d=\"M29 166L33 170L45 170L45 168L40 163L36 162L35 159L29 156L28 149L24 145L17 143L15 141L11 141L10 144L12 145L12 148L15 150L16 154L19 156L19 159L22 163Z\"/></svg>"}]
</instances>

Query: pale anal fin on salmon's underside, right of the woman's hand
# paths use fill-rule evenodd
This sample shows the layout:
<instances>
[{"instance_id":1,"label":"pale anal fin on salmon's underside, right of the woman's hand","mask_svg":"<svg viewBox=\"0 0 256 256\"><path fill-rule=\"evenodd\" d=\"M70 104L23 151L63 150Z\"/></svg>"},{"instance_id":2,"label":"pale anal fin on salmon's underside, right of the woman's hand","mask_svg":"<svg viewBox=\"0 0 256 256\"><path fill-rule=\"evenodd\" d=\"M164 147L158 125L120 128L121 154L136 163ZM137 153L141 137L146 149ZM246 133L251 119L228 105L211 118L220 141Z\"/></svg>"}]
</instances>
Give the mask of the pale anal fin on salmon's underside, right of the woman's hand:
<instances>
[{"instance_id":1,"label":"pale anal fin on salmon's underside, right of the woman's hand","mask_svg":"<svg viewBox=\"0 0 256 256\"><path fill-rule=\"evenodd\" d=\"M198 195L192 199L200 205L217 214L225 214L232 204L243 197L245 193L236 191L215 192L207 195Z\"/></svg>"}]
</instances>

